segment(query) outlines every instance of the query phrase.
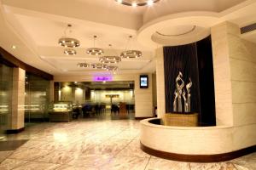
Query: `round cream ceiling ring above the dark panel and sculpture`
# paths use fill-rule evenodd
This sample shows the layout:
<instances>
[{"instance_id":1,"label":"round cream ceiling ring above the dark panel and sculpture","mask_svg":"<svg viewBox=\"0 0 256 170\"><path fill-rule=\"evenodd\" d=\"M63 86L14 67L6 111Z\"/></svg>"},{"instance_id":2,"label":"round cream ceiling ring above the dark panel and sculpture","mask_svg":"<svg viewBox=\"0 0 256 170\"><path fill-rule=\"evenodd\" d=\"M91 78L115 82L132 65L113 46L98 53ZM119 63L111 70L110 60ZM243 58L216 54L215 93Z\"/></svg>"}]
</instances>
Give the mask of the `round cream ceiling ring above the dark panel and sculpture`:
<instances>
[{"instance_id":1,"label":"round cream ceiling ring above the dark panel and sculpture","mask_svg":"<svg viewBox=\"0 0 256 170\"><path fill-rule=\"evenodd\" d=\"M205 11L169 14L143 25L137 33L137 40L150 48L196 42L210 34L210 27L218 23L219 18L219 13ZM171 26L193 26L193 29L174 37L161 36L156 33Z\"/></svg>"}]
</instances>

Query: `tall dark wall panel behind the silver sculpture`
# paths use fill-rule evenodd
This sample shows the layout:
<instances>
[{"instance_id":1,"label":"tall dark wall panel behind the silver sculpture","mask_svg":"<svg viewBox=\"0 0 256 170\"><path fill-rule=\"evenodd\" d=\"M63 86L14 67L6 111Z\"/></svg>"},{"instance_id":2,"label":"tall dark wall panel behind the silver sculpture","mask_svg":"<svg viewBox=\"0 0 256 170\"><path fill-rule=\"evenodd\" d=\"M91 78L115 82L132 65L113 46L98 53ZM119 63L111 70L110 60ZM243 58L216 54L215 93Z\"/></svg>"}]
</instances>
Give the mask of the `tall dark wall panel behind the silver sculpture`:
<instances>
[{"instance_id":1,"label":"tall dark wall panel behind the silver sculpture","mask_svg":"<svg viewBox=\"0 0 256 170\"><path fill-rule=\"evenodd\" d=\"M173 112L178 72L185 84L191 78L191 112L199 113L203 126L215 125L214 80L211 37L182 46L164 47L166 112Z\"/></svg>"}]
</instances>

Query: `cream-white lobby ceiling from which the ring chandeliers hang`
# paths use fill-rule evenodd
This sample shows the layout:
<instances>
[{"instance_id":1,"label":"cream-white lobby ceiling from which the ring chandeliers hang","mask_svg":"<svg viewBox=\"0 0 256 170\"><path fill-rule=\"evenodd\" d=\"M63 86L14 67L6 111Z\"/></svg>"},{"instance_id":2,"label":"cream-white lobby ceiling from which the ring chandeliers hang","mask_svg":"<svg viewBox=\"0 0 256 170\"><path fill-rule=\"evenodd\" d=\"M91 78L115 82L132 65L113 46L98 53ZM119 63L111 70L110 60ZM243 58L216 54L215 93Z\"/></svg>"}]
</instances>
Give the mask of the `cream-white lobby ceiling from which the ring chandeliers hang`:
<instances>
[{"instance_id":1,"label":"cream-white lobby ceiling from which the ring chandeliers hang","mask_svg":"<svg viewBox=\"0 0 256 170\"><path fill-rule=\"evenodd\" d=\"M85 54L86 48L93 46L93 36L97 35L96 47L104 48L106 54L120 54L127 48L127 39L133 36L128 48L143 51L142 59L123 59L119 63L119 74L147 73L155 71L154 48L137 41L139 29L159 17L190 11L225 12L226 20L235 20L243 26L256 21L255 16L243 12L237 17L229 14L240 9L241 3L251 5L255 0L161 0L151 8L127 7L114 0L0 0L0 45L18 59L53 75L85 75L96 72L90 68L77 67L79 62L95 63L97 57ZM233 8L229 12L229 8ZM238 17L239 15L239 17ZM241 23L241 17L244 17ZM67 24L73 25L70 37L81 42L78 54L67 56L58 45ZM191 25L163 26L155 31L178 34ZM254 36L256 34L253 34ZM252 37L252 36L251 36ZM256 38L248 38L253 41ZM151 35L150 37L151 38ZM112 44L113 48L109 48ZM12 45L16 45L14 50Z\"/></svg>"}]
</instances>

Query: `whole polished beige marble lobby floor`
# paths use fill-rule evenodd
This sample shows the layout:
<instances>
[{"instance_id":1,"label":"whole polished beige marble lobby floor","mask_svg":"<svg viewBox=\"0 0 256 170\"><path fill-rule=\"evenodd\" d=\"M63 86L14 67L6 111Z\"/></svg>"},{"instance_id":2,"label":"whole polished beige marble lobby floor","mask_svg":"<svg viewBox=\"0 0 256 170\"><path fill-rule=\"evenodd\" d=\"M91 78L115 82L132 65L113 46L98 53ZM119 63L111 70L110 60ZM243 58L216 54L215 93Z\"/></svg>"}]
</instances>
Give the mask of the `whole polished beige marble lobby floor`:
<instances>
[{"instance_id":1,"label":"whole polished beige marble lobby floor","mask_svg":"<svg viewBox=\"0 0 256 170\"><path fill-rule=\"evenodd\" d=\"M26 127L7 140L29 139L16 150L0 152L1 170L247 170L256 153L220 163L168 161L140 150L139 121L76 120Z\"/></svg>"}]
</instances>

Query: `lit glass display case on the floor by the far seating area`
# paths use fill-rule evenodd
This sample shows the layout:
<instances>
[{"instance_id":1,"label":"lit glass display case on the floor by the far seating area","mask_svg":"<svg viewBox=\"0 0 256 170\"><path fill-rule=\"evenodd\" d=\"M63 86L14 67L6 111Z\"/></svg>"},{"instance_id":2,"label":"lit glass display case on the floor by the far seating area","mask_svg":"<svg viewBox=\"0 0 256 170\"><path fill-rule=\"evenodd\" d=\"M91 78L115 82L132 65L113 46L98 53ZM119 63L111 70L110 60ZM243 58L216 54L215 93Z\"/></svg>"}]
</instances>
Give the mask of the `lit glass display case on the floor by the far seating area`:
<instances>
[{"instance_id":1,"label":"lit glass display case on the floor by the far seating area","mask_svg":"<svg viewBox=\"0 0 256 170\"><path fill-rule=\"evenodd\" d=\"M72 121L73 105L71 101L58 101L49 105L49 122Z\"/></svg>"}]
</instances>

